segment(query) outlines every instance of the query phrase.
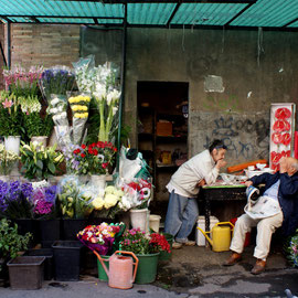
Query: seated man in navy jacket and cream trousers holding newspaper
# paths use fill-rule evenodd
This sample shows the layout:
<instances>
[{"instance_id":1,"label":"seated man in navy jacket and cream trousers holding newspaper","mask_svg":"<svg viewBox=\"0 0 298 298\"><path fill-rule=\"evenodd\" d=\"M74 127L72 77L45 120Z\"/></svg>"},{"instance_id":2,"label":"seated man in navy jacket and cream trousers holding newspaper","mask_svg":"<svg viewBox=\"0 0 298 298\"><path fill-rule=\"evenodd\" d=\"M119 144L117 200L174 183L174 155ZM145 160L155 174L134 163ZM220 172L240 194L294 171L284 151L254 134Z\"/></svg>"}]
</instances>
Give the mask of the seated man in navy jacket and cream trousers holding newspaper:
<instances>
[{"instance_id":1,"label":"seated man in navy jacket and cream trousers holding newspaper","mask_svg":"<svg viewBox=\"0 0 298 298\"><path fill-rule=\"evenodd\" d=\"M253 206L245 206L243 214L236 222L234 236L230 249L233 252L225 262L225 266L235 265L241 260L245 234L253 226L257 227L254 257L257 258L252 274L265 270L266 258L269 254L272 235L283 225L283 234L288 236L298 227L298 160L283 158L280 171L274 174L264 173L246 181L246 185L265 183L263 196Z\"/></svg>"}]
</instances>

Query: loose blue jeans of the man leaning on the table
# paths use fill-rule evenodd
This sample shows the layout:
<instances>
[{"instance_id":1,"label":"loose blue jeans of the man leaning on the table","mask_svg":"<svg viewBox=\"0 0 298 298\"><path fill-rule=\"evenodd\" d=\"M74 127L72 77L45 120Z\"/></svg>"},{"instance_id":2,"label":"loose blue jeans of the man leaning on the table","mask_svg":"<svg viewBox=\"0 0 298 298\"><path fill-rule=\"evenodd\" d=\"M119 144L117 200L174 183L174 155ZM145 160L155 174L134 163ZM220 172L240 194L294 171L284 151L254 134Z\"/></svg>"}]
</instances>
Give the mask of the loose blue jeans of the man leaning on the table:
<instances>
[{"instance_id":1,"label":"loose blue jeans of the man leaning on the table","mask_svg":"<svg viewBox=\"0 0 298 298\"><path fill-rule=\"evenodd\" d=\"M178 242L187 242L198 216L196 198L185 198L172 191L168 204L164 232L173 235Z\"/></svg>"}]
</instances>

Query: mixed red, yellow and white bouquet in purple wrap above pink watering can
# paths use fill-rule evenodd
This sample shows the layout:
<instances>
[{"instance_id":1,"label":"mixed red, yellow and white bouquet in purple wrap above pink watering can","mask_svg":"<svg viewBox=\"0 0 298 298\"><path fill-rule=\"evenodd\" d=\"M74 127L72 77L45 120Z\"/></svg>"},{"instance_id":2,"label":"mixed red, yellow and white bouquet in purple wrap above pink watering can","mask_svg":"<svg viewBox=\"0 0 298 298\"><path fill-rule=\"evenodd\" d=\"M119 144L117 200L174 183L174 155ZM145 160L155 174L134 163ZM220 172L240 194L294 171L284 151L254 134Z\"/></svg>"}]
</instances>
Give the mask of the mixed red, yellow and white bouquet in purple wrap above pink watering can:
<instances>
[{"instance_id":1,"label":"mixed red, yellow and white bouquet in purple wrap above pink watering can","mask_svg":"<svg viewBox=\"0 0 298 298\"><path fill-rule=\"evenodd\" d=\"M88 225L78 232L77 238L89 249L99 255L109 255L119 249L119 241L125 231L125 224Z\"/></svg>"}]
</instances>

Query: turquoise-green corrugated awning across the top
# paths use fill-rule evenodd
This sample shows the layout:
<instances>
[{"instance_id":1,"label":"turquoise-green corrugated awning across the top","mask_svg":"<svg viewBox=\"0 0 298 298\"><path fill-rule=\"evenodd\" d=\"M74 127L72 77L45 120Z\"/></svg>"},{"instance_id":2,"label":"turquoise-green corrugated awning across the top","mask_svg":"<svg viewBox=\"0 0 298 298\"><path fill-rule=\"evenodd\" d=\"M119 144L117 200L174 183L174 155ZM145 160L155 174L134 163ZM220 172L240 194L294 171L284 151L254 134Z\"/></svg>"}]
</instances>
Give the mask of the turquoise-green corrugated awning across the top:
<instances>
[{"instance_id":1,"label":"turquoise-green corrugated awning across the top","mask_svg":"<svg viewBox=\"0 0 298 298\"><path fill-rule=\"evenodd\" d=\"M125 11L127 9L127 19ZM298 28L298 0L0 0L3 23Z\"/></svg>"}]
</instances>

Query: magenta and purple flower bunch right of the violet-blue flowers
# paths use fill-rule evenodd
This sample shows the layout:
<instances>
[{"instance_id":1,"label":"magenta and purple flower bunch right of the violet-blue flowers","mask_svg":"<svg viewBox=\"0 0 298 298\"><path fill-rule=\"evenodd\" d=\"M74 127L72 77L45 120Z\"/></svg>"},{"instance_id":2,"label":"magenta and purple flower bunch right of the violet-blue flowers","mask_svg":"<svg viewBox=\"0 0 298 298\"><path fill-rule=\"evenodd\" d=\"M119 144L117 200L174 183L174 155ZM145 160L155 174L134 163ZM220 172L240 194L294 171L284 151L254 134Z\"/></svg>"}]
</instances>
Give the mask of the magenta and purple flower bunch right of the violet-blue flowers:
<instances>
[{"instance_id":1,"label":"magenta and purple flower bunch right of the violet-blue flowers","mask_svg":"<svg viewBox=\"0 0 298 298\"><path fill-rule=\"evenodd\" d=\"M39 188L33 193L34 215L50 216L55 211L55 201L57 194L57 187Z\"/></svg>"}]
</instances>

